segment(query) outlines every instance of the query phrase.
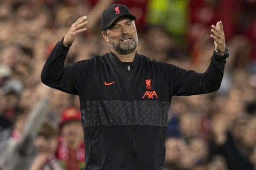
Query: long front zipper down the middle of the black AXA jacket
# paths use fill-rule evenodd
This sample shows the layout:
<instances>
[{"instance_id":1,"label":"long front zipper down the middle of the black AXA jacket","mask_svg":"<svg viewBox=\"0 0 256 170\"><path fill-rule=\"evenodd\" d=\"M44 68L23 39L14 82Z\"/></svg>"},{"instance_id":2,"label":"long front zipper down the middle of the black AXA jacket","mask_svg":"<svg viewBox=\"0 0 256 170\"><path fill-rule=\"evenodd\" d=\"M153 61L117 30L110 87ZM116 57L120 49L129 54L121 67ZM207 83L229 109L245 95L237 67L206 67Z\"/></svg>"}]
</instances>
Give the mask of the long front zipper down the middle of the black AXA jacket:
<instances>
[{"instance_id":1,"label":"long front zipper down the middle of the black AXA jacket","mask_svg":"<svg viewBox=\"0 0 256 170\"><path fill-rule=\"evenodd\" d=\"M130 65L128 65L128 75L129 75L129 82L130 82L130 88L131 88L131 93L130 93L131 94L131 113L132 113L132 125L133 125L133 131L134 131L134 159L135 159L135 155L136 155L136 144L135 144L136 131L135 131L135 120L134 120L134 103L133 103L133 98L132 98L133 93L132 93L132 85L131 85L132 74L131 74ZM134 163L135 163L135 161L134 161Z\"/></svg>"}]
</instances>

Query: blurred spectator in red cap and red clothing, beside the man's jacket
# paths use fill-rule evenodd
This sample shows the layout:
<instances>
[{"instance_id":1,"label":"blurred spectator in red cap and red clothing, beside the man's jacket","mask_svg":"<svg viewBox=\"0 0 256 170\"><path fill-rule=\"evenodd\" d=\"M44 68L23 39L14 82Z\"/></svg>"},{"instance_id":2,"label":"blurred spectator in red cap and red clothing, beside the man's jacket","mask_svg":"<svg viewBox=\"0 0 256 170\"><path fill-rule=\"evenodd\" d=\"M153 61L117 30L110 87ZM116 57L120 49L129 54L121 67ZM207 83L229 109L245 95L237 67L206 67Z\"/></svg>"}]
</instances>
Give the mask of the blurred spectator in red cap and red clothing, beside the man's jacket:
<instances>
[{"instance_id":1,"label":"blurred spectator in red cap and red clothing, beside the man's jacket","mask_svg":"<svg viewBox=\"0 0 256 170\"><path fill-rule=\"evenodd\" d=\"M73 107L64 109L60 129L56 156L62 167L65 170L84 170L84 137L80 111Z\"/></svg>"}]
</instances>

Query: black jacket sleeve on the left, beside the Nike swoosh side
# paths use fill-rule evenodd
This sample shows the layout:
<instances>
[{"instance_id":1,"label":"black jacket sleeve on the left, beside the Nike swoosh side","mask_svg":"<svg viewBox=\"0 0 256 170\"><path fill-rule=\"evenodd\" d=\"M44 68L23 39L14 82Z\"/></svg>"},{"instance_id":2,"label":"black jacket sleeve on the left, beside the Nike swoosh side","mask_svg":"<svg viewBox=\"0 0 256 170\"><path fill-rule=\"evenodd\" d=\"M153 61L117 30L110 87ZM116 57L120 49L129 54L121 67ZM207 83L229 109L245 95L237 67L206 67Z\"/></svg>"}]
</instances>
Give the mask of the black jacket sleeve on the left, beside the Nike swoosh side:
<instances>
[{"instance_id":1,"label":"black jacket sleeve on the left, beside the Nike swoosh side","mask_svg":"<svg viewBox=\"0 0 256 170\"><path fill-rule=\"evenodd\" d=\"M52 88L64 91L70 94L78 94L75 77L76 65L67 65L64 67L64 61L69 51L59 41L48 57L41 73L41 81Z\"/></svg>"}]
</instances>

